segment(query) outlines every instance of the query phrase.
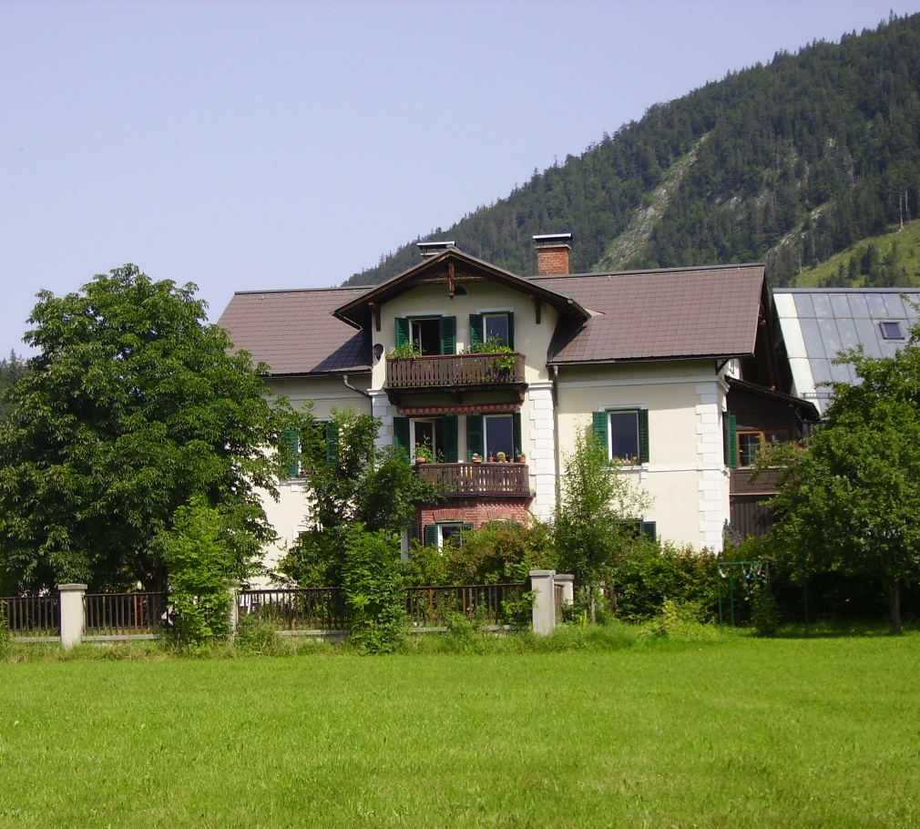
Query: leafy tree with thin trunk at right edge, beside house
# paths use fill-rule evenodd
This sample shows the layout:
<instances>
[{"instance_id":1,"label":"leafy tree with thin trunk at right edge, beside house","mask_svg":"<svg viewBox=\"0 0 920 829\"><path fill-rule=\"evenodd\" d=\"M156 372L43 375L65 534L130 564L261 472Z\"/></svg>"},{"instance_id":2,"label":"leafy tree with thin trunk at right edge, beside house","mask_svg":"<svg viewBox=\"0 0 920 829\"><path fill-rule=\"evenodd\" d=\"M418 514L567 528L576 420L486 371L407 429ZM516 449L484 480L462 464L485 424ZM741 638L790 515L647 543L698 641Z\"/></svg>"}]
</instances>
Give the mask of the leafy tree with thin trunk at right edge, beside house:
<instances>
[{"instance_id":1,"label":"leafy tree with thin trunk at right edge, beside house","mask_svg":"<svg viewBox=\"0 0 920 829\"><path fill-rule=\"evenodd\" d=\"M901 632L901 585L920 574L920 328L893 357L848 351L856 385L834 384L826 424L801 448L774 448L783 463L771 544L800 578L866 576L889 596Z\"/></svg>"}]
</instances>

